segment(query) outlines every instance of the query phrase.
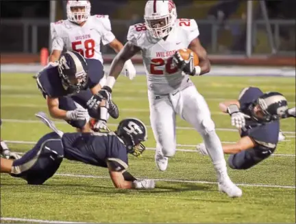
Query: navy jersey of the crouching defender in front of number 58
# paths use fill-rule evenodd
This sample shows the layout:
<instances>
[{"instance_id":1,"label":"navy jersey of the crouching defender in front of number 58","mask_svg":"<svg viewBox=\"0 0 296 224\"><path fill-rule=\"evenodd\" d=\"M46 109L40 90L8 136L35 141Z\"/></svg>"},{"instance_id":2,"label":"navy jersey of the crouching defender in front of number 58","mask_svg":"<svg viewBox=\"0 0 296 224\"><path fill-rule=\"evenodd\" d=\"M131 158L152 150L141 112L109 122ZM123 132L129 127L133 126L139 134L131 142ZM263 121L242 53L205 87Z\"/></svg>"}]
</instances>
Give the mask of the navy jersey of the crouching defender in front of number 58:
<instances>
[{"instance_id":1,"label":"navy jersey of the crouching defender in front of number 58","mask_svg":"<svg viewBox=\"0 0 296 224\"><path fill-rule=\"evenodd\" d=\"M103 65L99 60L95 59L86 59L86 63L88 64L88 82L86 89L92 89L99 84L99 80L103 78ZM42 69L38 74L36 82L44 97L59 98L71 95L71 92L67 91L62 85L62 80L58 72L58 63L52 63L45 67L45 69Z\"/></svg>"}]
</instances>

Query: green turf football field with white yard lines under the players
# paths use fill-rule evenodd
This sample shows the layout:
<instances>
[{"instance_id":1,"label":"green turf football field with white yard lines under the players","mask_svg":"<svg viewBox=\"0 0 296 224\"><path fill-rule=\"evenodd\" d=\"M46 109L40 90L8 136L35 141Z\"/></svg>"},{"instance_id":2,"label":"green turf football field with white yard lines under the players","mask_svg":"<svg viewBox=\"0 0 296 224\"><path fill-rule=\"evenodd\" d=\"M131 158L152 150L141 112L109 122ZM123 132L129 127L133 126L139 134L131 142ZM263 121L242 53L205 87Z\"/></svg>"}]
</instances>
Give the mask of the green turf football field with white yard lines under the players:
<instances>
[{"instance_id":1,"label":"green turf football field with white yard lines under the players","mask_svg":"<svg viewBox=\"0 0 296 224\"><path fill-rule=\"evenodd\" d=\"M231 130L230 117L219 113L222 100L235 99L247 86L284 93L295 107L295 78L197 77L193 78L206 98L223 142L233 142L238 134ZM149 125L145 76L130 81L119 78L113 93L121 117L138 117ZM34 113L47 111L45 100L29 74L1 74L1 139L35 142L49 128ZM118 120L109 120L115 128ZM62 131L73 131L64 122ZM43 186L27 186L25 181L1 175L1 217L47 221L103 223L295 223L295 120L283 120L286 142L273 156L250 170L230 170L235 183L242 183L243 197L229 199L217 191L214 170L208 157L196 153L201 137L189 124L177 120L177 151L169 168L159 172L154 150L141 158L130 155L130 171L136 177L160 179L154 190L116 190L103 168L63 161L58 174ZM155 142L148 128L146 146ZM233 129L233 128L232 128ZM30 144L9 144L25 152ZM1 221L16 222L16 221Z\"/></svg>"}]
</instances>

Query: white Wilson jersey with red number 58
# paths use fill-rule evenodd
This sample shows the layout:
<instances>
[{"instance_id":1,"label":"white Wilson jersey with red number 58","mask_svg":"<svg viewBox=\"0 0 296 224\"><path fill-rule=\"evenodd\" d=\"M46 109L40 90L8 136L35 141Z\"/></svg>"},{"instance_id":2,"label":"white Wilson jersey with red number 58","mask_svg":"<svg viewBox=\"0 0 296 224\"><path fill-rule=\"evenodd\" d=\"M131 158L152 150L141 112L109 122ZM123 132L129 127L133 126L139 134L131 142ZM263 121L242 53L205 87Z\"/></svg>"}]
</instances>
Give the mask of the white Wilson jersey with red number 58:
<instances>
[{"instance_id":1,"label":"white Wilson jersey with red number 58","mask_svg":"<svg viewBox=\"0 0 296 224\"><path fill-rule=\"evenodd\" d=\"M100 44L112 42L115 36L111 32L109 16L94 15L82 27L69 20L51 23L51 38L53 50L73 50L85 58L97 59L103 63Z\"/></svg>"}]
</instances>

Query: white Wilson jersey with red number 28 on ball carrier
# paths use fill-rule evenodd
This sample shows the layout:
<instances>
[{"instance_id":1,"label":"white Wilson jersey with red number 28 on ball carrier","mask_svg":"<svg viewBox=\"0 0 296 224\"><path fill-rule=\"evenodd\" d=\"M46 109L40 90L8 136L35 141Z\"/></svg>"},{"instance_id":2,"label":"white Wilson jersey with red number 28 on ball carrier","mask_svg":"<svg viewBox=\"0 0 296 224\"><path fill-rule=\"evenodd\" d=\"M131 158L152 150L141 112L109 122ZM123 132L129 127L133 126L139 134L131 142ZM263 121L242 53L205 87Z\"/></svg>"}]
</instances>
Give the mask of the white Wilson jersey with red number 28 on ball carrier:
<instances>
[{"instance_id":1,"label":"white Wilson jersey with red number 28 on ball carrier","mask_svg":"<svg viewBox=\"0 0 296 224\"><path fill-rule=\"evenodd\" d=\"M175 67L172 56L177 49L188 48L198 36L194 19L177 19L166 41L152 38L145 23L130 26L127 40L141 49L150 91L168 94L192 85L189 76Z\"/></svg>"}]
</instances>

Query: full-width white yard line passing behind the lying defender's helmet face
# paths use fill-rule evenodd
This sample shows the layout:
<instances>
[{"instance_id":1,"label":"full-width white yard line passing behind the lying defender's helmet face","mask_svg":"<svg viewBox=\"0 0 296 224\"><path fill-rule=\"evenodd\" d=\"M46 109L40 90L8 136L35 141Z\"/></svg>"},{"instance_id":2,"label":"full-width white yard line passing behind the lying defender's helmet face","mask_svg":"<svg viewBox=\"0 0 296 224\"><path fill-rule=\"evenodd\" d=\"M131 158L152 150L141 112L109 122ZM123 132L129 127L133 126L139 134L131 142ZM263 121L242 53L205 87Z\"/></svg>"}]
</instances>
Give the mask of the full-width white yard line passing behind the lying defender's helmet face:
<instances>
[{"instance_id":1,"label":"full-width white yard line passing behind the lying defender's helmet face","mask_svg":"<svg viewBox=\"0 0 296 224\"><path fill-rule=\"evenodd\" d=\"M39 120L18 120L18 119L1 119L3 122L17 122L17 123L39 123L42 124ZM56 124L67 124L64 121L55 121ZM117 126L118 124L108 124L108 126ZM147 128L151 128L151 126L147 125ZM176 127L177 130L195 130L195 128L191 128L191 127L181 127L181 126L177 126ZM232 131L232 132L237 132L236 129L232 129L232 128L216 128L217 131ZM295 135L295 131L283 131L284 134L293 134ZM290 136L291 137L291 136ZM292 136L295 137L295 136Z\"/></svg>"}]
</instances>

